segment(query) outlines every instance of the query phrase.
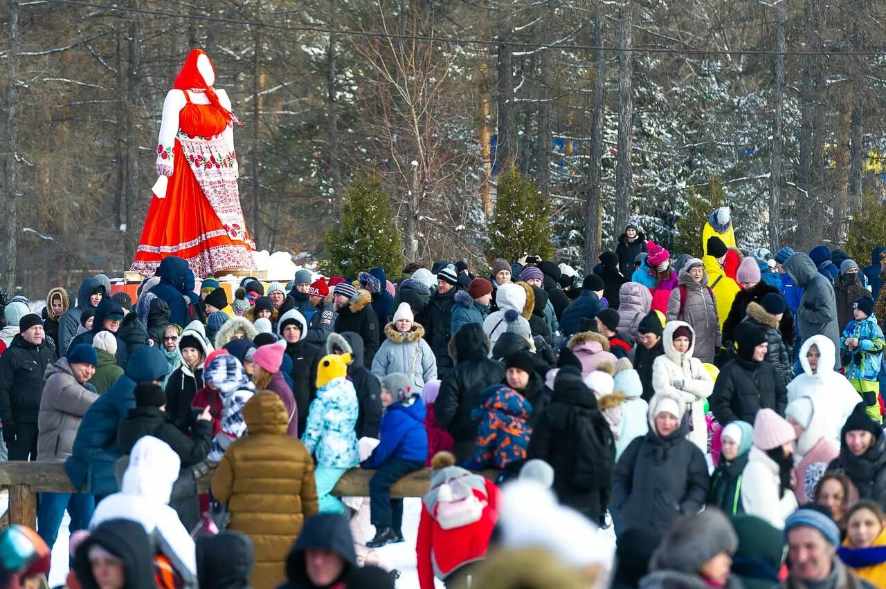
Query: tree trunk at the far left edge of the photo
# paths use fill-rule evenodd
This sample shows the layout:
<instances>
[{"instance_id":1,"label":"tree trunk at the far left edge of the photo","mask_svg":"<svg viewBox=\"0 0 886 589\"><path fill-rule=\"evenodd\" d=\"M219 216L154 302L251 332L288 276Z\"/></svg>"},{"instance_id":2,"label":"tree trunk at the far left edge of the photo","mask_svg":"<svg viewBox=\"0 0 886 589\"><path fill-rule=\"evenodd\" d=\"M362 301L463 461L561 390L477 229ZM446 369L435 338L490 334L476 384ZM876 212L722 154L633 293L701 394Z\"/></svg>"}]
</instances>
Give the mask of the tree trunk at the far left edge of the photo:
<instances>
[{"instance_id":1,"label":"tree trunk at the far left edge of the photo","mask_svg":"<svg viewBox=\"0 0 886 589\"><path fill-rule=\"evenodd\" d=\"M6 194L4 226L6 226L6 243L4 244L4 261L0 266L3 276L0 279L7 292L14 293L16 279L16 257L19 239L19 216L17 214L19 200L19 143L16 135L16 108L18 107L16 88L19 80L19 0L9 0L6 15ZM12 298L12 297L11 297Z\"/></svg>"}]
</instances>

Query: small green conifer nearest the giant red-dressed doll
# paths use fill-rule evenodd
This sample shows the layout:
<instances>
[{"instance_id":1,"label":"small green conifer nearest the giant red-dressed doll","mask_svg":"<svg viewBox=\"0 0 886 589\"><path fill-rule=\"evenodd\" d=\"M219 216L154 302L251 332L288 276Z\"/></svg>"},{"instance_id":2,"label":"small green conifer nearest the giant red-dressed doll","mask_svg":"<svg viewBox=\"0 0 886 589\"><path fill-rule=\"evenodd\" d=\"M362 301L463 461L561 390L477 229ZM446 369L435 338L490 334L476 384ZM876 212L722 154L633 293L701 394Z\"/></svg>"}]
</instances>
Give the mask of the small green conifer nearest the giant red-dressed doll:
<instances>
[{"instance_id":1,"label":"small green conifer nearest the giant red-dressed doll","mask_svg":"<svg viewBox=\"0 0 886 589\"><path fill-rule=\"evenodd\" d=\"M381 266L388 276L403 268L403 246L387 193L377 176L359 176L345 191L338 226L326 233L330 272L356 278Z\"/></svg>"}]
</instances>

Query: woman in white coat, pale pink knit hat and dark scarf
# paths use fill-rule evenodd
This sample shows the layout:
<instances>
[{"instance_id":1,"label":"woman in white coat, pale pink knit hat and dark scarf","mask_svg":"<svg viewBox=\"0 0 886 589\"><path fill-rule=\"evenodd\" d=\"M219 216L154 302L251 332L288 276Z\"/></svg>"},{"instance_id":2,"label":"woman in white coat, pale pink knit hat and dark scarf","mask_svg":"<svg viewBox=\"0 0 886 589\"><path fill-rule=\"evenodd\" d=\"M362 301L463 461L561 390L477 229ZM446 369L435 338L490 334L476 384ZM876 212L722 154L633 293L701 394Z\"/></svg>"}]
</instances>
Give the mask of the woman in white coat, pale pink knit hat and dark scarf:
<instances>
[{"instance_id":1,"label":"woman in white coat, pale pink knit hat and dark scarf","mask_svg":"<svg viewBox=\"0 0 886 589\"><path fill-rule=\"evenodd\" d=\"M742 473L742 507L749 516L765 519L779 530L797 510L791 486L794 469L794 427L772 409L760 409L754 419L754 445Z\"/></svg>"}]
</instances>

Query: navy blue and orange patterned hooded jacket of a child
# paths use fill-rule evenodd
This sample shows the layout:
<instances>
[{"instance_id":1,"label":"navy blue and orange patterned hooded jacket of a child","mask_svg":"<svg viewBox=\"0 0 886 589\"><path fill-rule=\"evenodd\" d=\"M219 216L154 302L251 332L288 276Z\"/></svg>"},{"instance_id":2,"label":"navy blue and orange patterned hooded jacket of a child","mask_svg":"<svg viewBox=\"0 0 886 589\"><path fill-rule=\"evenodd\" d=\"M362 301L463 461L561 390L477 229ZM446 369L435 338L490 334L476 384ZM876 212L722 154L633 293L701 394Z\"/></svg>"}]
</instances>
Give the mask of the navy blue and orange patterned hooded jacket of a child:
<instances>
[{"instance_id":1,"label":"navy blue and orange patterned hooded jacket of a child","mask_svg":"<svg viewBox=\"0 0 886 589\"><path fill-rule=\"evenodd\" d=\"M474 409L480 420L477 445L466 469L503 469L526 459L532 426L532 404L522 394L504 385L489 386L480 394L480 407Z\"/></svg>"}]
</instances>

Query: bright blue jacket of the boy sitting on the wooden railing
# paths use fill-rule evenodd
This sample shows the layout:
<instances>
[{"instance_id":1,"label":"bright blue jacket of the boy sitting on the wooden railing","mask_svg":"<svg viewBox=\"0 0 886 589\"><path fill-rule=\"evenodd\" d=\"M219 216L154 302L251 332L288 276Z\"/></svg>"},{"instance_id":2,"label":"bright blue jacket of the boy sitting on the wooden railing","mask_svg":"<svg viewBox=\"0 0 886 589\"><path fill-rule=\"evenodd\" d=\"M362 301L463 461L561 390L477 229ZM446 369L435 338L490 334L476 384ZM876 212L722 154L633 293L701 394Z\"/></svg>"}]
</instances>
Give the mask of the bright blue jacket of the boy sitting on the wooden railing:
<instances>
[{"instance_id":1,"label":"bright blue jacket of the boy sitting on the wooden railing","mask_svg":"<svg viewBox=\"0 0 886 589\"><path fill-rule=\"evenodd\" d=\"M424 463L428 459L428 431L424 429L427 414L428 410L417 394L385 409L378 446L361 466L364 469L377 469L393 459Z\"/></svg>"}]
</instances>

